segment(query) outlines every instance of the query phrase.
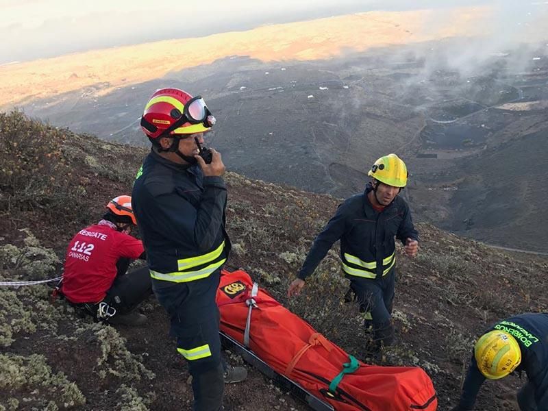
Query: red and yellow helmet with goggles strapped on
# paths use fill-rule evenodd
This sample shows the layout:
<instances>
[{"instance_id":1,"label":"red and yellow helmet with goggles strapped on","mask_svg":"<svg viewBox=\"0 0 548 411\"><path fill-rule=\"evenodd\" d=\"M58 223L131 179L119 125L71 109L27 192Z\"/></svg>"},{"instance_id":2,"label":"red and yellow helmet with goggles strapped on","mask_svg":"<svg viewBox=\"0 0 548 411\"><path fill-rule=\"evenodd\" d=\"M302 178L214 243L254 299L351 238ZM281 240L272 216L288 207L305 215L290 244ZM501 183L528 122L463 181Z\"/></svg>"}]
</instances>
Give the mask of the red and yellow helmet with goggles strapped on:
<instances>
[{"instance_id":1,"label":"red and yellow helmet with goggles strapped on","mask_svg":"<svg viewBox=\"0 0 548 411\"><path fill-rule=\"evenodd\" d=\"M145 105L142 131L151 140L171 134L207 132L215 124L206 102L178 88L156 90Z\"/></svg>"}]
</instances>

